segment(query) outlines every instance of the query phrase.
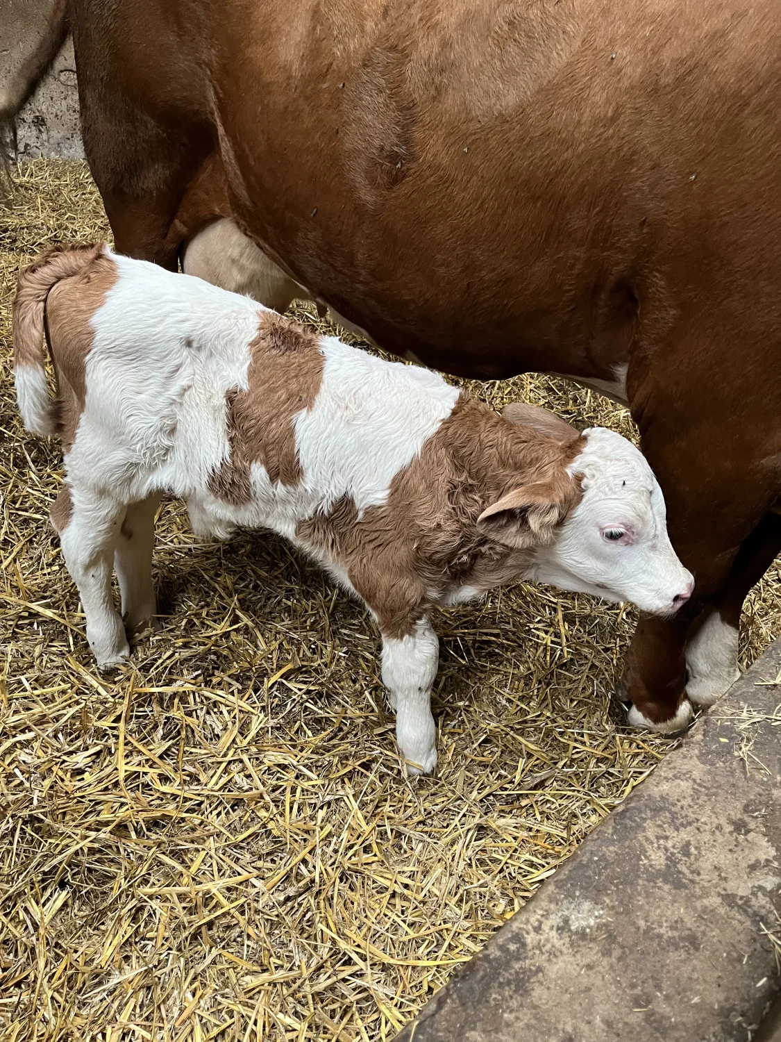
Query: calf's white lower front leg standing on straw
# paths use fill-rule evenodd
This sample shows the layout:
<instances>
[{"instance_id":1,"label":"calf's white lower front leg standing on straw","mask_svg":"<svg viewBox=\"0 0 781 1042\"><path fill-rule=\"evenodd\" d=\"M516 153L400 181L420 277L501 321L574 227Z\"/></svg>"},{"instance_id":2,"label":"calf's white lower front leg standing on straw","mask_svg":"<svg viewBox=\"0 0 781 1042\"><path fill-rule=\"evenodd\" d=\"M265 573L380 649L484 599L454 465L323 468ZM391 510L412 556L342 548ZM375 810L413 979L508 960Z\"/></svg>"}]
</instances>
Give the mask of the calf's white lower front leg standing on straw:
<instances>
[{"instance_id":1,"label":"calf's white lower front leg standing on straw","mask_svg":"<svg viewBox=\"0 0 781 1042\"><path fill-rule=\"evenodd\" d=\"M439 662L439 641L427 618L404 637L382 635L382 683L396 710L396 740L410 774L436 766L436 728L431 688Z\"/></svg>"}]
</instances>

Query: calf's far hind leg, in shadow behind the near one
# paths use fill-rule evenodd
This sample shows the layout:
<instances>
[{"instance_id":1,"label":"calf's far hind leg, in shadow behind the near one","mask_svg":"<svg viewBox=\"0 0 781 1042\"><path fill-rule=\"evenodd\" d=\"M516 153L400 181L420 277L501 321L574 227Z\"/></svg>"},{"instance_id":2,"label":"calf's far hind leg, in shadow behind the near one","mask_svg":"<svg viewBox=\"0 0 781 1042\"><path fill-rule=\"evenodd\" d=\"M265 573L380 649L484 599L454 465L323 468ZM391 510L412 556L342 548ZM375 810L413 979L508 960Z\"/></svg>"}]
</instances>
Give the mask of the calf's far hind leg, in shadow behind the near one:
<instances>
[{"instance_id":1,"label":"calf's far hind leg, in shadow behind the near one","mask_svg":"<svg viewBox=\"0 0 781 1042\"><path fill-rule=\"evenodd\" d=\"M131 503L120 527L114 551L114 568L122 596L122 617L134 629L152 622L157 598L152 582L154 519L160 496L154 493L140 503Z\"/></svg>"}]
</instances>

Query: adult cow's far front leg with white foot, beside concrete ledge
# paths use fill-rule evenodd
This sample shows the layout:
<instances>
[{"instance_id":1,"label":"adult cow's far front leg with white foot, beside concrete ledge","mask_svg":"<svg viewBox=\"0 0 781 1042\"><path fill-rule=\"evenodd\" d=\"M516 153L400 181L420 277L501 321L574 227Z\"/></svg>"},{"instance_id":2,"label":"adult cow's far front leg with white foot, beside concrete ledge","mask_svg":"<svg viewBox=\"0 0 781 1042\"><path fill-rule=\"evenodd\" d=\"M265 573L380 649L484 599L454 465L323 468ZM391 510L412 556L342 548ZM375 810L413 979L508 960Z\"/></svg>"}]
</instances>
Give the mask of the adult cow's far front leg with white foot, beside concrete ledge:
<instances>
[{"instance_id":1,"label":"adult cow's far front leg with white foot, beside concrete ledge","mask_svg":"<svg viewBox=\"0 0 781 1042\"><path fill-rule=\"evenodd\" d=\"M781 517L767 514L742 543L724 589L689 631L686 694L697 705L712 705L740 675L738 625L744 600L781 552Z\"/></svg>"}]
</instances>

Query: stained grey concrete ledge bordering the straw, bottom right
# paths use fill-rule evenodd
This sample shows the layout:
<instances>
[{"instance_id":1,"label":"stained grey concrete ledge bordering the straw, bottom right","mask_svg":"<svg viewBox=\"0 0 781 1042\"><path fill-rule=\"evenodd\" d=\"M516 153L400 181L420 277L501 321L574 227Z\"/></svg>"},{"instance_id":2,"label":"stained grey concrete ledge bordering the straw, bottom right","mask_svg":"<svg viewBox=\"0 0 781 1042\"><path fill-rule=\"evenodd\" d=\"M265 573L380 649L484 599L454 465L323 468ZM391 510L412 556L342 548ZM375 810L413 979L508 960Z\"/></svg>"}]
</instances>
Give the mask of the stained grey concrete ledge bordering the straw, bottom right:
<instances>
[{"instance_id":1,"label":"stained grey concrete ledge bordering the straw, bottom right","mask_svg":"<svg viewBox=\"0 0 781 1042\"><path fill-rule=\"evenodd\" d=\"M779 990L780 703L781 640L397 1042L755 1036Z\"/></svg>"}]
</instances>

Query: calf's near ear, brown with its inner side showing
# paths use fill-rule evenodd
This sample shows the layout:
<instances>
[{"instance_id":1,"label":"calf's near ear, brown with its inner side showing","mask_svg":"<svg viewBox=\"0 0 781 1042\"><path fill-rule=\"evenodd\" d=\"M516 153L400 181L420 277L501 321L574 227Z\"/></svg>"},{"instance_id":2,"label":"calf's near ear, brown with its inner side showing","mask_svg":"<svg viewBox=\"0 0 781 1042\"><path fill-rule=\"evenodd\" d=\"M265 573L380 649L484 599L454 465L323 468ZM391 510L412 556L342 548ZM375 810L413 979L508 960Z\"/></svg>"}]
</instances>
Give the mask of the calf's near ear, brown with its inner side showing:
<instances>
[{"instance_id":1,"label":"calf's near ear, brown with its inner side showing","mask_svg":"<svg viewBox=\"0 0 781 1042\"><path fill-rule=\"evenodd\" d=\"M569 478L525 485L486 507L477 523L492 539L513 549L540 546L552 542L574 495L574 482Z\"/></svg>"}]
</instances>

